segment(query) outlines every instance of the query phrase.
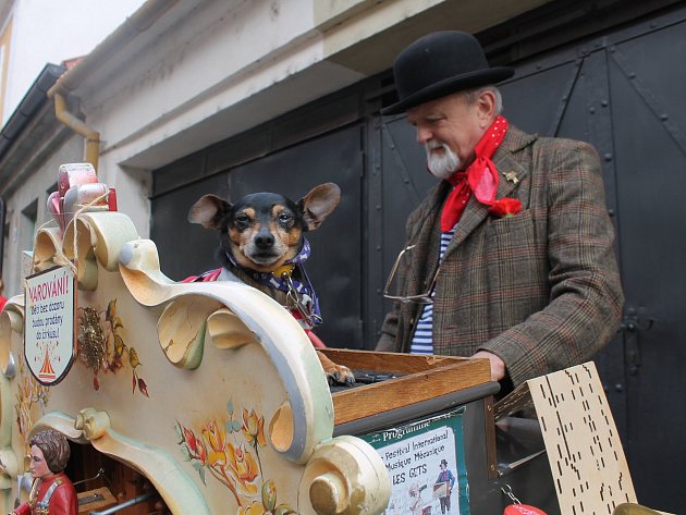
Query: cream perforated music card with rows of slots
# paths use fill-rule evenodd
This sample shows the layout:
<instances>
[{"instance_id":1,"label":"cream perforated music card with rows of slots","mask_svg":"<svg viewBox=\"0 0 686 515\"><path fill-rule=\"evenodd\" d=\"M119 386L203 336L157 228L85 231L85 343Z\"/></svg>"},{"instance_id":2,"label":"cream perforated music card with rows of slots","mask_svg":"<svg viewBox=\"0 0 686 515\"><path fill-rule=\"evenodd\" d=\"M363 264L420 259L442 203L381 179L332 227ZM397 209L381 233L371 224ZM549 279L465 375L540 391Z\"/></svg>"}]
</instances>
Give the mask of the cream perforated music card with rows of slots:
<instances>
[{"instance_id":1,"label":"cream perforated music card with rows of slots","mask_svg":"<svg viewBox=\"0 0 686 515\"><path fill-rule=\"evenodd\" d=\"M636 503L622 442L592 361L527 381L562 515Z\"/></svg>"}]
</instances>

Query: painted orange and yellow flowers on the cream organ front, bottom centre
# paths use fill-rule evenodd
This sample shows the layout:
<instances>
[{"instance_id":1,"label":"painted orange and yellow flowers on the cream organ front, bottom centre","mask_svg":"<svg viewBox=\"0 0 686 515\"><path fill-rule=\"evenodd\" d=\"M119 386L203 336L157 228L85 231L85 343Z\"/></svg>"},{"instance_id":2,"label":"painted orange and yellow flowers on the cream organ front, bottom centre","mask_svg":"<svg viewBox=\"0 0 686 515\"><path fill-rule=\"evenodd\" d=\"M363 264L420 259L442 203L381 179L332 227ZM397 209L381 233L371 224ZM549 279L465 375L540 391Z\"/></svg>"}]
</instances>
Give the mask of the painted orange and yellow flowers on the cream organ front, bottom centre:
<instances>
[{"instance_id":1,"label":"painted orange and yellow flowers on the cream organ front, bottom centre","mask_svg":"<svg viewBox=\"0 0 686 515\"><path fill-rule=\"evenodd\" d=\"M255 409L243 408L242 419L234 419L233 402L226 405L224 420L206 421L197 431L181 422L174 429L181 452L207 485L207 471L224 485L238 504L237 515L286 515L295 512L278 504L277 486L265 479L260 450L267 444L265 418Z\"/></svg>"}]
</instances>

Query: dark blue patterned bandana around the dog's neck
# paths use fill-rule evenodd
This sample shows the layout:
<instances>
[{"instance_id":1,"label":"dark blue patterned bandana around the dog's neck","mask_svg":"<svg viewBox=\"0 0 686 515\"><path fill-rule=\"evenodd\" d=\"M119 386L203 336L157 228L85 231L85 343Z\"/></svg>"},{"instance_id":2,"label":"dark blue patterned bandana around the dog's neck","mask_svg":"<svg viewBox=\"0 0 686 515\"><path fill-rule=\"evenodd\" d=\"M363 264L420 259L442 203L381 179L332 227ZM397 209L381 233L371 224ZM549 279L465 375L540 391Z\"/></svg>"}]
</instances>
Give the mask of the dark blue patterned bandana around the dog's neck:
<instances>
[{"instance_id":1,"label":"dark blue patterned bandana around the dog's neck","mask_svg":"<svg viewBox=\"0 0 686 515\"><path fill-rule=\"evenodd\" d=\"M301 280L295 280L290 273L287 268L283 273L277 275L272 272L256 272L255 270L247 269L242 267L236 262L233 258L233 255L230 250L226 250L226 257L232 266L243 270L245 273L249 274L253 279L255 279L260 284L265 286L269 286L273 290L281 290L282 292L286 292L289 296L293 295L293 302L295 306L290 307L293 316L298 320L307 323L309 327L319 326L321 323L321 311L319 309L319 299L317 298L317 294L315 293L315 289L313 287L309 277L305 271L305 267L303 263L307 261L311 254L311 249L309 246L309 242L307 238L303 238L303 248L293 259L286 261L283 267L279 270L284 270L284 267L292 265L293 268L299 270ZM291 270L293 270L291 268Z\"/></svg>"}]
</instances>

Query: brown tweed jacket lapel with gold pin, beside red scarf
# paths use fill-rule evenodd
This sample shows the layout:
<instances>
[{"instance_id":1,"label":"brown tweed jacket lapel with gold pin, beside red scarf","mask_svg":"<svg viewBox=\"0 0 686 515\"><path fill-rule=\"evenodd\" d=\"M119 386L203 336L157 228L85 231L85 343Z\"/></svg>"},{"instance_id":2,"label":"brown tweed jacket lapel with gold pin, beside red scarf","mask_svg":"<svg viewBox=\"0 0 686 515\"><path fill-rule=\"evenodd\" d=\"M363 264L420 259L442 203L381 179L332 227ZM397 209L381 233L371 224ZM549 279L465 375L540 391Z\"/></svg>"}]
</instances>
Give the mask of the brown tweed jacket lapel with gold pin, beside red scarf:
<instances>
[{"instance_id":1,"label":"brown tweed jacket lapel with gold pin, beside red scarf","mask_svg":"<svg viewBox=\"0 0 686 515\"><path fill-rule=\"evenodd\" d=\"M530 145L536 138L537 136L523 133L514 125L511 125L507 130L503 143L495 150L492 158L500 175L495 194L497 199L510 196L528 175L528 170L516 162L513 155ZM457 222L455 235L445 249L445 256L457 248L488 214L489 206L479 203L473 195L462 213L460 222Z\"/></svg>"}]
</instances>

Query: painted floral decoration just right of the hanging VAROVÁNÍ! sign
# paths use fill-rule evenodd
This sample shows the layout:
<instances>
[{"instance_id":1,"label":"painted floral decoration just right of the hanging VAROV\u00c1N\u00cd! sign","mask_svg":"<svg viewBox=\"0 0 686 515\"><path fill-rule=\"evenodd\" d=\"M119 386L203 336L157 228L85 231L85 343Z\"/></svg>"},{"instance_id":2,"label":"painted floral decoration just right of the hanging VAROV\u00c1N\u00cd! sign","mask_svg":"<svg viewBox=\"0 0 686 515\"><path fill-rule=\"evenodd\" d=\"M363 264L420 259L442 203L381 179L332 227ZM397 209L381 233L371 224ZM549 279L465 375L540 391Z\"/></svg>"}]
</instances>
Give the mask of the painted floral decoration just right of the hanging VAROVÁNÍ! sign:
<instances>
[{"instance_id":1,"label":"painted floral decoration just right of the hanging VAROV\u00c1N\u00cd! sign","mask_svg":"<svg viewBox=\"0 0 686 515\"><path fill-rule=\"evenodd\" d=\"M100 389L98 372L114 372L126 363L131 366L133 393L136 389L149 397L148 387L136 369L142 365L134 347L124 343L124 323L117 316L117 298L109 302L107 310L94 307L78 308L78 334L76 336L78 359L94 372L93 388Z\"/></svg>"}]
</instances>

